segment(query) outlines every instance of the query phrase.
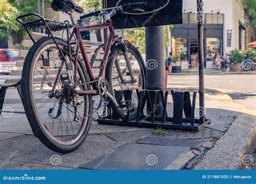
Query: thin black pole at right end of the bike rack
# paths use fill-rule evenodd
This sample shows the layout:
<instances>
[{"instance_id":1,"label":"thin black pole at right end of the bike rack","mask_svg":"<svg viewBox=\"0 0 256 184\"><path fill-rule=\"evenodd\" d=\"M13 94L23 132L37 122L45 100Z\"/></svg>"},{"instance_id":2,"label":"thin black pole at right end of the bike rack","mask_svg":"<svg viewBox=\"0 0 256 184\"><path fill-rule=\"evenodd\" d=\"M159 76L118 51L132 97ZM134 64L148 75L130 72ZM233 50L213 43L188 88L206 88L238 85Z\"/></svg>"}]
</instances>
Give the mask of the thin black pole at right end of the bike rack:
<instances>
[{"instance_id":1,"label":"thin black pole at right end of the bike rack","mask_svg":"<svg viewBox=\"0 0 256 184\"><path fill-rule=\"evenodd\" d=\"M205 122L205 88L204 88L204 11L203 0L197 0L197 23L198 23L198 58L199 58L199 105L200 124Z\"/></svg>"}]
</instances>

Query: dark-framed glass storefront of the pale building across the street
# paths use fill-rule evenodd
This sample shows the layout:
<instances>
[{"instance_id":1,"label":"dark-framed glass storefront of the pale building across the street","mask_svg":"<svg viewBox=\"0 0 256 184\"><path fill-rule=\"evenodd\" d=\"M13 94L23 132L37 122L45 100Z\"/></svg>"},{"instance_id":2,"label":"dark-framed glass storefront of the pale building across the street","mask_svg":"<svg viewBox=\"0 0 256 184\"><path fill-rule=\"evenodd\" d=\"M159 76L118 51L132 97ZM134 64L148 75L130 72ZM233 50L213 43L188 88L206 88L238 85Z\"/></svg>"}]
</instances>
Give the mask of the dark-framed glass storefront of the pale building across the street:
<instances>
[{"instance_id":1,"label":"dark-framed glass storefront of the pale building across the street","mask_svg":"<svg viewBox=\"0 0 256 184\"><path fill-rule=\"evenodd\" d=\"M215 53L223 52L224 15L207 13L204 15L204 55L205 68L212 65ZM172 52L179 55L183 62L181 68L198 66L198 32L195 13L183 13L183 24L174 25L171 29ZM208 64L208 66L207 66Z\"/></svg>"}]
</instances>

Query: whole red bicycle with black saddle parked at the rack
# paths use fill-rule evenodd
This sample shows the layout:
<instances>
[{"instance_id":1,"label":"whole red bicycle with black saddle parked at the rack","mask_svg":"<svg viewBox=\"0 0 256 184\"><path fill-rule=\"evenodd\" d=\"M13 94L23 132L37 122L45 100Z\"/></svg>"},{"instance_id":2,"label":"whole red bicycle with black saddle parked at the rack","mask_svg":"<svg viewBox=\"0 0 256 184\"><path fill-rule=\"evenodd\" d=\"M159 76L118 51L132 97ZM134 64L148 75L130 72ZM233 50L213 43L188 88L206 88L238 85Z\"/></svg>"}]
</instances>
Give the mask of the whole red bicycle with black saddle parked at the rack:
<instances>
[{"instance_id":1,"label":"whole red bicycle with black saddle parked at the rack","mask_svg":"<svg viewBox=\"0 0 256 184\"><path fill-rule=\"evenodd\" d=\"M51 150L69 153L82 145L94 113L92 96L99 95L105 107L109 104L120 119L126 120L128 112L130 119L136 117L136 93L132 93L132 100L126 100L124 95L116 97L115 93L145 89L145 63L136 47L114 35L111 18L123 11L132 12L138 6L141 9L146 3L88 13L80 20L103 14L104 22L85 26L80 25L80 20L77 23L74 16L75 12L83 13L83 9L70 0L53 0L51 7L67 13L71 24L45 19L37 13L17 17L34 43L26 55L21 80L26 117L34 135ZM38 19L24 23L21 19L28 16ZM38 28L45 29L48 37L35 42L29 30ZM102 28L109 29L109 38L98 77L95 77L80 32ZM65 32L66 40L53 36L53 31ZM116 39L119 43L113 44ZM52 60L60 66L51 68ZM121 65L120 60L125 62Z\"/></svg>"}]
</instances>

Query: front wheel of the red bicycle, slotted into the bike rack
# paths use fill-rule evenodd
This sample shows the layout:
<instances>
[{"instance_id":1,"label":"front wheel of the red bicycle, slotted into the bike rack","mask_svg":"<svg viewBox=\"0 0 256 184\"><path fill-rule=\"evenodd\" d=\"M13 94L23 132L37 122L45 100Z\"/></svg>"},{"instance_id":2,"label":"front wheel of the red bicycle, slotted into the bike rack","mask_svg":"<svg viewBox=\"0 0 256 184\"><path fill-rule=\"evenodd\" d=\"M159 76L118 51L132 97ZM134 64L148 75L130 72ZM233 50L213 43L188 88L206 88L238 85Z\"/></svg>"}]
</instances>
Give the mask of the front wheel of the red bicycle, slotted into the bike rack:
<instances>
[{"instance_id":1,"label":"front wheel of the red bicycle, slotted into the bike rack","mask_svg":"<svg viewBox=\"0 0 256 184\"><path fill-rule=\"evenodd\" d=\"M110 84L110 90L112 94L114 91L124 91L126 89L133 90L131 105L132 109L130 111L130 120L134 120L137 117L137 106L138 106L138 94L136 90L145 89L145 63L143 61L142 55L139 53L138 49L131 45L129 51L130 65L132 67L133 77L136 79L136 82L132 82L127 64L124 59L122 45L114 46L109 55L109 61L106 65L105 79ZM118 66L117 66L118 65ZM120 72L118 73L118 69ZM122 77L121 77L122 75ZM121 80L123 78L123 81ZM121 98L122 101L125 101L124 95ZM112 102L110 102L111 108L117 113L119 118L126 120L127 112L129 109L117 108Z\"/></svg>"}]
</instances>

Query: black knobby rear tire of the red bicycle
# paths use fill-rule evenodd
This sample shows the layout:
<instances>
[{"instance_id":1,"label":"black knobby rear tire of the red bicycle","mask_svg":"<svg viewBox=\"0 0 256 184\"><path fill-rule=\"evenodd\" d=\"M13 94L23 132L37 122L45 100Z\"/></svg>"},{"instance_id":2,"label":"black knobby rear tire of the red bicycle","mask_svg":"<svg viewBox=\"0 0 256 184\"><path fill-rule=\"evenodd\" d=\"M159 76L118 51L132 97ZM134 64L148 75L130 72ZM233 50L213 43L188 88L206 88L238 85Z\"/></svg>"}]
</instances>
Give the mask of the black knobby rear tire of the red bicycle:
<instances>
[{"instance_id":1,"label":"black knobby rear tire of the red bicycle","mask_svg":"<svg viewBox=\"0 0 256 184\"><path fill-rule=\"evenodd\" d=\"M61 49L67 49L68 43L60 38L55 38L58 45L61 47ZM45 45L54 44L54 41L51 37L43 37L39 39L29 50L28 54L26 55L24 66L22 70L22 80L21 80L21 86L22 86L22 101L24 104L24 109L26 113L26 117L28 118L28 121L30 123L31 129L33 131L33 134L50 150L60 153L69 153L72 151L75 151L80 145L83 144L83 141L85 140L87 133L89 132L90 125L91 125L91 116L88 116L86 119L86 125L84 125L84 130L80 132L80 137L77 138L75 143L72 144L62 144L53 139L46 130L44 130L41 122L38 121L38 114L35 110L35 104L33 104L33 97L32 97L32 89L33 83L33 65L36 65L36 58L38 57L38 54L40 53L41 49L44 48ZM67 51L68 52L68 51ZM78 66L77 71L80 77L82 77L83 82L89 82L89 77L87 75L87 72L84 68L84 65L80 59L78 59ZM90 90L90 84L83 84L84 89ZM90 115L92 112L92 96L87 95L87 104L88 107L88 114Z\"/></svg>"}]
</instances>

